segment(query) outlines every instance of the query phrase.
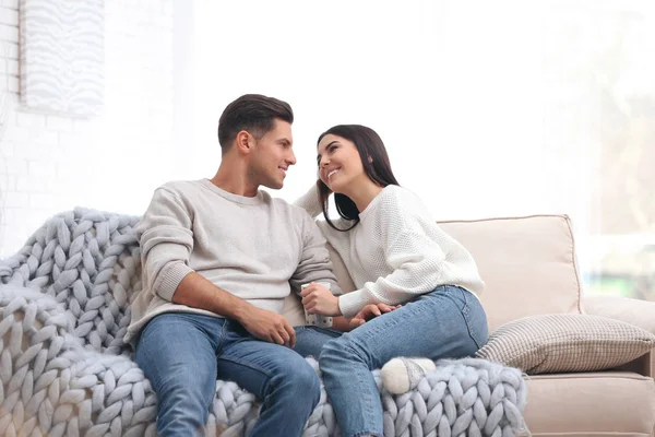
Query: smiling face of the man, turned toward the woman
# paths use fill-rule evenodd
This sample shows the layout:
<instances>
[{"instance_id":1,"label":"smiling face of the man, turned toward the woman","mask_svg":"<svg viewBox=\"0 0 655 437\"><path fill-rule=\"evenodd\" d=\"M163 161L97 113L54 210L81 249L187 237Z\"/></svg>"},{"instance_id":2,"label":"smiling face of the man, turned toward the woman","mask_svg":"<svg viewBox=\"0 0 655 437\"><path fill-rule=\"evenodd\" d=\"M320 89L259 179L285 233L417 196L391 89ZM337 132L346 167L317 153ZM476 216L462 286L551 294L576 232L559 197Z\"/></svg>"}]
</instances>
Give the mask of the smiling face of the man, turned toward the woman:
<instances>
[{"instance_id":1,"label":"smiling face of the man, turned toward the woman","mask_svg":"<svg viewBox=\"0 0 655 437\"><path fill-rule=\"evenodd\" d=\"M264 187L281 189L289 166L296 164L293 144L291 125L275 120L273 130L254 140L250 163L252 181Z\"/></svg>"}]
</instances>

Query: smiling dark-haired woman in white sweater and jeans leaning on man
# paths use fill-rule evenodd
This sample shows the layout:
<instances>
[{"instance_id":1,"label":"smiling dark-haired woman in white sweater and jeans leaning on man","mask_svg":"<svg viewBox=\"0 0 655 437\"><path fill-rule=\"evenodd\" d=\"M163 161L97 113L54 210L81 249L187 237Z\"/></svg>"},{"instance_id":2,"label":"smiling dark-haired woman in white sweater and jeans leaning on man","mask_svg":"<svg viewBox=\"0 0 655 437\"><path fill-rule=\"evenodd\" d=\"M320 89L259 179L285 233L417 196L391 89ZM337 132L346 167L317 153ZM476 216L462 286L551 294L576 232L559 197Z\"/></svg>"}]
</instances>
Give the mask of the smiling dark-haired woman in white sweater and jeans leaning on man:
<instances>
[{"instance_id":1,"label":"smiling dark-haired woman in white sweater and jeans leaning on man","mask_svg":"<svg viewBox=\"0 0 655 437\"><path fill-rule=\"evenodd\" d=\"M318 190L296 203L313 216L323 212L326 221L318 224L357 290L334 296L312 283L301 293L302 304L309 314L336 317L336 329L356 328L327 341L319 357L342 435L382 436L371 370L397 356L475 354L487 341L477 297L484 283L471 253L441 231L418 197L398 186L372 129L327 130L319 138L318 164ZM332 192L336 221L327 214Z\"/></svg>"}]
</instances>

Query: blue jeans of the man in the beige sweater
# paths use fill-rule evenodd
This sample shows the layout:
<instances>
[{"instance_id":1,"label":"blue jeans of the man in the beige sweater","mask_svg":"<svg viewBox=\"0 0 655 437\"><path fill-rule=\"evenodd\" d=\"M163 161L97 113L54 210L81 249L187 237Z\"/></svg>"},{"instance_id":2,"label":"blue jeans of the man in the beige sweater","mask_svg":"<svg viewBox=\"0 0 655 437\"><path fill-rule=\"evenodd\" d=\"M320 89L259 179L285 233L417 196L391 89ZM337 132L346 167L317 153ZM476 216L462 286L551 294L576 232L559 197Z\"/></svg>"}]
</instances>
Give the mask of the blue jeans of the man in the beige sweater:
<instances>
[{"instance_id":1,"label":"blue jeans of the man in the beige sweater","mask_svg":"<svg viewBox=\"0 0 655 437\"><path fill-rule=\"evenodd\" d=\"M157 393L158 436L204 435L216 379L263 401L251 436L300 436L320 399L319 377L300 355L228 319L159 315L141 332L135 362Z\"/></svg>"}]
</instances>

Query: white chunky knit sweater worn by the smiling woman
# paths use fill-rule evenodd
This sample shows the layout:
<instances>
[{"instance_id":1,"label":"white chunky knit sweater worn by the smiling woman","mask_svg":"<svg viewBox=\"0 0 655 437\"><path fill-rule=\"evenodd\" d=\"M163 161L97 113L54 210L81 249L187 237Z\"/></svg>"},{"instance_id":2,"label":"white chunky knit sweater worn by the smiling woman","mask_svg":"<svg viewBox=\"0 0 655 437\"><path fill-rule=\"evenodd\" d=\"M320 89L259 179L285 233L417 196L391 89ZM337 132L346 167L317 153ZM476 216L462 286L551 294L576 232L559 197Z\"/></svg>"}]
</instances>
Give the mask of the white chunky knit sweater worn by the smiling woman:
<instances>
[{"instance_id":1,"label":"white chunky knit sweater worn by the smiling woman","mask_svg":"<svg viewBox=\"0 0 655 437\"><path fill-rule=\"evenodd\" d=\"M322 213L312 187L295 202L312 217ZM445 234L412 191L390 185L359 214L348 232L318 221L325 239L344 260L358 290L340 296L346 317L368 304L397 305L440 285L458 285L478 296L485 283L471 253ZM352 222L332 220L340 228Z\"/></svg>"}]
</instances>

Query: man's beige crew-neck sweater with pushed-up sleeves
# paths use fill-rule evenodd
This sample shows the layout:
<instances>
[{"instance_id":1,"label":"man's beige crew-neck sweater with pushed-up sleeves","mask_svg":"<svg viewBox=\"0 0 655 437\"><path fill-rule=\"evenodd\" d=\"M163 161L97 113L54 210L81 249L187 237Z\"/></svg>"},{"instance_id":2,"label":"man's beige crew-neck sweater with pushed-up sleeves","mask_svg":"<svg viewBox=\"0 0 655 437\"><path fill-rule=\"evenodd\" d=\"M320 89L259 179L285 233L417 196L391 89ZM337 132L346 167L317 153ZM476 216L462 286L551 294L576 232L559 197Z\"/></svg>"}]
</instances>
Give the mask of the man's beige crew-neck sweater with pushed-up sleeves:
<instances>
[{"instance_id":1,"label":"man's beige crew-neck sweater with pushed-up sleeves","mask_svg":"<svg viewBox=\"0 0 655 437\"><path fill-rule=\"evenodd\" d=\"M325 239L300 208L259 191L236 196L207 179L159 187L136 227L143 290L132 303L130 341L168 311L219 317L171 302L191 271L250 304L281 314L291 286L327 281L341 292Z\"/></svg>"}]
</instances>

